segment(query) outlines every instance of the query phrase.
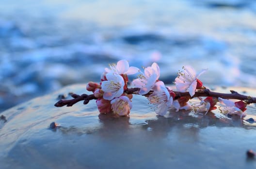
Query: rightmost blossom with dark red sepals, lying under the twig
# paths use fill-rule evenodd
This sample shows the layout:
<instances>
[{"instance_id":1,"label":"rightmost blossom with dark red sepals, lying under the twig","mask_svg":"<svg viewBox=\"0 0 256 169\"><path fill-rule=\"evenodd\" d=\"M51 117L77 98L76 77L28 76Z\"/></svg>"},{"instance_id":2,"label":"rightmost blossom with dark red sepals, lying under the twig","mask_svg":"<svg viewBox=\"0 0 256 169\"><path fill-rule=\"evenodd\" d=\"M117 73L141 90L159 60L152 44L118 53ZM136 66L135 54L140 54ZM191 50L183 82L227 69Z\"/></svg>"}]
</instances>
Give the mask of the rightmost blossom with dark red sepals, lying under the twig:
<instances>
[{"instance_id":1,"label":"rightmost blossom with dark red sepals, lying under the twig","mask_svg":"<svg viewBox=\"0 0 256 169\"><path fill-rule=\"evenodd\" d=\"M218 98L218 100L221 104L224 105L224 107L220 108L221 113L230 114L230 115L236 114L236 115L239 115L240 118L246 116L246 113L244 113L247 106L246 102L242 100L233 102L231 100L222 99L222 98Z\"/></svg>"}]
</instances>

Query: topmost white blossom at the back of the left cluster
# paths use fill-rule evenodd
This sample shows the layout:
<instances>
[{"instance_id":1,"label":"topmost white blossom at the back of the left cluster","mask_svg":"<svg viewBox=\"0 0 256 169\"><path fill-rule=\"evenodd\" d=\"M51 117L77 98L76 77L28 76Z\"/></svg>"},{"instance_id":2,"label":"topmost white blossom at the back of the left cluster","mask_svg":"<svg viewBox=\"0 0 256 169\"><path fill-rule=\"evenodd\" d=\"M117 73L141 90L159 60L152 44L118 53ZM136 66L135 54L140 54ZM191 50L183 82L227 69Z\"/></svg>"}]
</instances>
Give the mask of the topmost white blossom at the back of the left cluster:
<instances>
[{"instance_id":1,"label":"topmost white blossom at the back of the left cluster","mask_svg":"<svg viewBox=\"0 0 256 169\"><path fill-rule=\"evenodd\" d=\"M140 70L139 68L136 68L136 67L129 67L129 63L127 60L119 60L117 62L117 64L111 64L109 65L110 66L110 69L109 68L105 68L105 71L107 73L115 73L115 74L127 74L127 75L130 75L130 74L135 74L135 73L138 73Z\"/></svg>"}]
</instances>

